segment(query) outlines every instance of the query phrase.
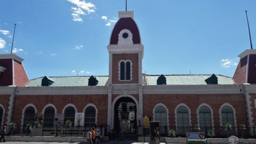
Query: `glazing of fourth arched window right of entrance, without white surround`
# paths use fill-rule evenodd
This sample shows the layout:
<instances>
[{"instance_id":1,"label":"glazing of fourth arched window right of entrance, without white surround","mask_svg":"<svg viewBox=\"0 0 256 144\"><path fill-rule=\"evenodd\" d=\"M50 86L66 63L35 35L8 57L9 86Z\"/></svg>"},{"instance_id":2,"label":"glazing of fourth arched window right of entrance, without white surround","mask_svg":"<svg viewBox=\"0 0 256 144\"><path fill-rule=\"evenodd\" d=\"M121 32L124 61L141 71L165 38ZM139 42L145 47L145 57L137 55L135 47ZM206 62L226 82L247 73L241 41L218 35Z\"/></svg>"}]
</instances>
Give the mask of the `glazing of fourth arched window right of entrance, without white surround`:
<instances>
[{"instance_id":1,"label":"glazing of fourth arched window right of entrance, without white surround","mask_svg":"<svg viewBox=\"0 0 256 144\"><path fill-rule=\"evenodd\" d=\"M221 122L222 122L222 129L225 134L227 134L227 131L225 131L225 125L227 123L231 124L232 129L230 130L229 134L235 134L234 127L236 126L234 123L234 111L230 106L223 106L221 108Z\"/></svg>"}]
</instances>

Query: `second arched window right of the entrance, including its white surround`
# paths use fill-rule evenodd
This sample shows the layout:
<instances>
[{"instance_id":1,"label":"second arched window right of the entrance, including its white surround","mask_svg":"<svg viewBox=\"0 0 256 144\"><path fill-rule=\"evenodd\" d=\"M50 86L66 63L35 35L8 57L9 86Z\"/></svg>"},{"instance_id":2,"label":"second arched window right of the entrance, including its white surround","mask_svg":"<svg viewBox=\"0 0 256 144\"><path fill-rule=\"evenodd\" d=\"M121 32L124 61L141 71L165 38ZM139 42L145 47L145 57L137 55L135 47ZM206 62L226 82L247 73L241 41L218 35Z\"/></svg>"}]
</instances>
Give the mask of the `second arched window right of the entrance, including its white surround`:
<instances>
[{"instance_id":1,"label":"second arched window right of the entrance, including its white surround","mask_svg":"<svg viewBox=\"0 0 256 144\"><path fill-rule=\"evenodd\" d=\"M190 131L191 111L186 104L179 104L175 108L175 122L178 135L185 135Z\"/></svg>"}]
</instances>

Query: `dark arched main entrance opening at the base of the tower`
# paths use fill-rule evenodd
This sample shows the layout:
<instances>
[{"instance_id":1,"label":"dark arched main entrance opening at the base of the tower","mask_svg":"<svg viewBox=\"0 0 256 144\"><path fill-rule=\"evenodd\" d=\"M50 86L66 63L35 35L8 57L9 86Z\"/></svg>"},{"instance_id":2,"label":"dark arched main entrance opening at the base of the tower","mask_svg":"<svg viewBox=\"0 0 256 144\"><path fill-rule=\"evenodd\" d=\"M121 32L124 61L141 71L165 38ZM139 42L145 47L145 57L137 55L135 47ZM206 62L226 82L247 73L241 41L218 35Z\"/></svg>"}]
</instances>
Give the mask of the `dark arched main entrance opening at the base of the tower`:
<instances>
[{"instance_id":1,"label":"dark arched main entrance opening at the base of the tower","mask_svg":"<svg viewBox=\"0 0 256 144\"><path fill-rule=\"evenodd\" d=\"M116 100L114 108L114 129L120 128L124 132L136 132L137 129L137 106L130 97L121 97Z\"/></svg>"}]
</instances>

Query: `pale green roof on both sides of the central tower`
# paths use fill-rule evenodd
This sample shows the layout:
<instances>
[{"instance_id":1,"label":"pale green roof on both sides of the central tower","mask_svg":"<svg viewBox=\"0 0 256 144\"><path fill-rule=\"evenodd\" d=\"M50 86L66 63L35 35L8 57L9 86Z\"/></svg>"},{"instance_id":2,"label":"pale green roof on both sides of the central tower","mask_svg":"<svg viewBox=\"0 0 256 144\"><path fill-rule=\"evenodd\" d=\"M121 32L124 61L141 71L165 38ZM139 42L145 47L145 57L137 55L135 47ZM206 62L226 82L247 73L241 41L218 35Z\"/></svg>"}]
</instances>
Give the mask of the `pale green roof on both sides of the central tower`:
<instances>
[{"instance_id":1,"label":"pale green roof on both sides of the central tower","mask_svg":"<svg viewBox=\"0 0 256 144\"><path fill-rule=\"evenodd\" d=\"M161 75L147 75L147 85L157 85L157 78ZM88 79L91 76L63 76L63 77L49 77L54 83L51 86L88 86ZM99 81L97 86L106 86L108 76L94 76ZM207 84L205 79L211 77L211 74L198 75L164 75L166 77L166 85L194 85ZM218 77L218 84L234 84L232 77L216 75ZM28 86L41 86L43 77L31 79Z\"/></svg>"}]
</instances>

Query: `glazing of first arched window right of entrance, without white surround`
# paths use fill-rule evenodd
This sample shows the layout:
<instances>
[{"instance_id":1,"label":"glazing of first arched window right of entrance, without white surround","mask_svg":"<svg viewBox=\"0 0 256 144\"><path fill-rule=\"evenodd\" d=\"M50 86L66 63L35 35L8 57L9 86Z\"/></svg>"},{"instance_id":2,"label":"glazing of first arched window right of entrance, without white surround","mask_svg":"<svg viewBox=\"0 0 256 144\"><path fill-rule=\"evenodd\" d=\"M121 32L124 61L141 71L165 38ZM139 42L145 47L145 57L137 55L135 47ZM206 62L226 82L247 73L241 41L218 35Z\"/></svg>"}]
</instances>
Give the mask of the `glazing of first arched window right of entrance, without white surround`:
<instances>
[{"instance_id":1,"label":"glazing of first arched window right of entrance, without white surround","mask_svg":"<svg viewBox=\"0 0 256 144\"><path fill-rule=\"evenodd\" d=\"M155 121L159 121L160 133L164 134L167 131L167 116L166 109L163 106L157 106L154 113Z\"/></svg>"}]
</instances>

